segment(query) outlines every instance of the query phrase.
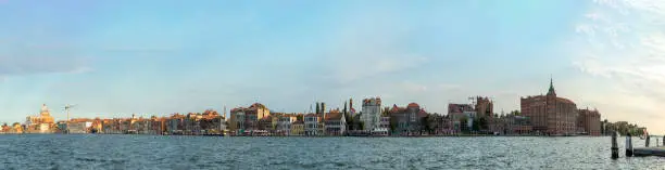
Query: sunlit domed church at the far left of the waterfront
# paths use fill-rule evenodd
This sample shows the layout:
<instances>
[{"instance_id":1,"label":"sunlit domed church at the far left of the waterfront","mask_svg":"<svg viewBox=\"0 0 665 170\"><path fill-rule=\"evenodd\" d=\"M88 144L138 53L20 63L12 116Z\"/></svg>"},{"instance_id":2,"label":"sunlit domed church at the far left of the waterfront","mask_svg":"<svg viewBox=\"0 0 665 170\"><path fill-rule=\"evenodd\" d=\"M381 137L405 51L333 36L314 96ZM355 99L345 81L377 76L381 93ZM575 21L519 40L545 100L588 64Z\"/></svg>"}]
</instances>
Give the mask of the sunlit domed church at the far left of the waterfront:
<instances>
[{"instance_id":1,"label":"sunlit domed church at the far left of the waterfront","mask_svg":"<svg viewBox=\"0 0 665 170\"><path fill-rule=\"evenodd\" d=\"M46 104L41 106L38 116L28 116L25 122L27 133L53 133L57 126Z\"/></svg>"}]
</instances>

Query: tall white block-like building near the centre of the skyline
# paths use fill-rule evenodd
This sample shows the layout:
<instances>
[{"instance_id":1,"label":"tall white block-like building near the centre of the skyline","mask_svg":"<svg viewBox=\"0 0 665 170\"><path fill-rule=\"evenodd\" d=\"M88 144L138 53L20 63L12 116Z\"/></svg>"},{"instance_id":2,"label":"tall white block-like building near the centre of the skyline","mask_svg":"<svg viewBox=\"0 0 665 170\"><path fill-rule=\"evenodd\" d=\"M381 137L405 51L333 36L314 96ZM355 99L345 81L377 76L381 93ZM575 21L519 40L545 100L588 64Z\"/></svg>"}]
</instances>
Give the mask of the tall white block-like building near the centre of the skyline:
<instances>
[{"instance_id":1,"label":"tall white block-like building near the centre of the skyline","mask_svg":"<svg viewBox=\"0 0 665 170\"><path fill-rule=\"evenodd\" d=\"M372 97L363 100L361 120L365 123L365 130L377 130L380 128L381 99Z\"/></svg>"}]
</instances>

